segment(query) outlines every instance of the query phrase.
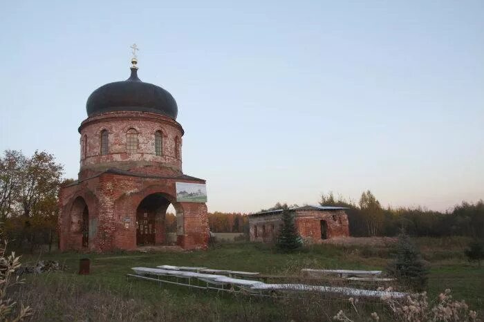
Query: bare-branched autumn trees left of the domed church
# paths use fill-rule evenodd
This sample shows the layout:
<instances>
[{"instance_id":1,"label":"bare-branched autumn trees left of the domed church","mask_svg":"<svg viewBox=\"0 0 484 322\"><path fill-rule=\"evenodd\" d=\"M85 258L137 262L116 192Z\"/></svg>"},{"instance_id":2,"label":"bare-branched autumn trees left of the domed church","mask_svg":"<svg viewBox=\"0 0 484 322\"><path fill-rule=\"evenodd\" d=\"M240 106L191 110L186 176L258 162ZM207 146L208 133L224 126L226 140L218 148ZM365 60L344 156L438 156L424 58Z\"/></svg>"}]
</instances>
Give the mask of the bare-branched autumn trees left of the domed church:
<instances>
[{"instance_id":1,"label":"bare-branched autumn trees left of the domed church","mask_svg":"<svg viewBox=\"0 0 484 322\"><path fill-rule=\"evenodd\" d=\"M17 243L53 243L57 228L57 193L62 165L54 155L35 151L27 158L21 151L5 151L0 160L0 215L6 234ZM10 228L12 230L10 230Z\"/></svg>"}]
</instances>

